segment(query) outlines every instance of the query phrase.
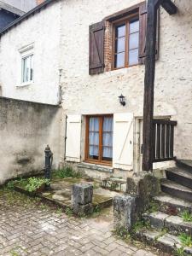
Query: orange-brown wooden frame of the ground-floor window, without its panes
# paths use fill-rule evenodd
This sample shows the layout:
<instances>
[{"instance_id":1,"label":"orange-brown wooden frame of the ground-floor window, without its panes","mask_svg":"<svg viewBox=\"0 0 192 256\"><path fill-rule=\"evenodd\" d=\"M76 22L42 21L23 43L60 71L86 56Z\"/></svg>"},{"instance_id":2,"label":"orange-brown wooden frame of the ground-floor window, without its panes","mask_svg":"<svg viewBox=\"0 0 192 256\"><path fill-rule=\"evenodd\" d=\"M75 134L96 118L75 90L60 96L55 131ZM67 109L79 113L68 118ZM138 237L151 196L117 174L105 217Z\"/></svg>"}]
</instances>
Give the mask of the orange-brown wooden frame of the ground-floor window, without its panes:
<instances>
[{"instance_id":1,"label":"orange-brown wooden frame of the ground-floor window, without its panes","mask_svg":"<svg viewBox=\"0 0 192 256\"><path fill-rule=\"evenodd\" d=\"M84 161L91 164L103 165L103 166L112 166L113 165L113 157L111 161L102 160L102 124L104 117L113 118L113 114L90 114L86 115L85 119L85 157ZM99 118L99 155L98 160L93 160L89 158L89 133L90 133L90 118Z\"/></svg>"}]
</instances>

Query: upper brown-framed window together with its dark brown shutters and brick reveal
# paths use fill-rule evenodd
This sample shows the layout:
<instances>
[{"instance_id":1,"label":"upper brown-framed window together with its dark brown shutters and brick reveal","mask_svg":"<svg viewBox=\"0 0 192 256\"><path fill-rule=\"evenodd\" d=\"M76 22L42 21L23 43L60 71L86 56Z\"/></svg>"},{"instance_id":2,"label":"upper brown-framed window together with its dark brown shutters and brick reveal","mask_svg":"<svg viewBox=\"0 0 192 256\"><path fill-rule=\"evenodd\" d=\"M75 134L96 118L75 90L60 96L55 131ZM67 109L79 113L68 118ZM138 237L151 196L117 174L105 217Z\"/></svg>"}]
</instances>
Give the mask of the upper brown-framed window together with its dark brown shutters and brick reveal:
<instances>
[{"instance_id":1,"label":"upper brown-framed window together with its dark brown shutters and brick reveal","mask_svg":"<svg viewBox=\"0 0 192 256\"><path fill-rule=\"evenodd\" d=\"M146 2L142 2L90 25L90 75L144 64L147 15ZM157 15L156 60L159 56L159 9Z\"/></svg>"}]
</instances>

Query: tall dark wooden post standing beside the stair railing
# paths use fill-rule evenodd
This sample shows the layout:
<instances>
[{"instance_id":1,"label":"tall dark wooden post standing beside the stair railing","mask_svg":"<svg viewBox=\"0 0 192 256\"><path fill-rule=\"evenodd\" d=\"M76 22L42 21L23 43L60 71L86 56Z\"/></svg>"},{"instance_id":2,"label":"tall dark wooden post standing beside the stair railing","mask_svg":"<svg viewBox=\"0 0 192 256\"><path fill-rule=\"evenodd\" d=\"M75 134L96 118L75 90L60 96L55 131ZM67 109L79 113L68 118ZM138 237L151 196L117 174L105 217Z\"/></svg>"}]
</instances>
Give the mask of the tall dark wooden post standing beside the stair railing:
<instances>
[{"instance_id":1,"label":"tall dark wooden post standing beside the stair railing","mask_svg":"<svg viewBox=\"0 0 192 256\"><path fill-rule=\"evenodd\" d=\"M154 73L157 5L148 0L144 104L143 104L143 171L153 170Z\"/></svg>"}]
</instances>

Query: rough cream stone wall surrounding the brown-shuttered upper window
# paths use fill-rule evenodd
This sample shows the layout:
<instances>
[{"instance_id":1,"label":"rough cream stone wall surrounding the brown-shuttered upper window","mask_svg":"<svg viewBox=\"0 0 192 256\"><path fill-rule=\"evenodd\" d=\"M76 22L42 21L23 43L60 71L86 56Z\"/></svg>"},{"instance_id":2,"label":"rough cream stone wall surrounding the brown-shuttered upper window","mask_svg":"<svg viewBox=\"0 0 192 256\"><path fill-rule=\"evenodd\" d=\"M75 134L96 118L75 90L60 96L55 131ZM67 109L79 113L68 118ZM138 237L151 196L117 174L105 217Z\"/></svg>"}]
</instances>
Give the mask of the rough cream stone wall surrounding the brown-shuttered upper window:
<instances>
[{"instance_id":1,"label":"rough cream stone wall surrounding the brown-shuttered upper window","mask_svg":"<svg viewBox=\"0 0 192 256\"><path fill-rule=\"evenodd\" d=\"M144 67L89 75L89 26L142 1L62 1L61 84L67 114L123 113L143 116ZM192 3L175 0L177 15L160 10L160 59L156 65L154 115L177 120L176 155L192 152ZM126 97L126 106L118 96Z\"/></svg>"}]
</instances>

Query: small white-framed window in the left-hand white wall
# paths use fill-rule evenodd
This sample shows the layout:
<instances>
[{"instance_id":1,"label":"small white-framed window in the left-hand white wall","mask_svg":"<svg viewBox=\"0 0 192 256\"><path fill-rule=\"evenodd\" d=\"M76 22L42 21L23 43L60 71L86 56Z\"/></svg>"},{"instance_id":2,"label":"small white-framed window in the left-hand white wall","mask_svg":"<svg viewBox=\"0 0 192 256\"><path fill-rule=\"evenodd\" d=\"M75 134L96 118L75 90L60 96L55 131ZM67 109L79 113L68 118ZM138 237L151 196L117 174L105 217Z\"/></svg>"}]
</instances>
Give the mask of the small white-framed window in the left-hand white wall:
<instances>
[{"instance_id":1,"label":"small white-framed window in the left-hand white wall","mask_svg":"<svg viewBox=\"0 0 192 256\"><path fill-rule=\"evenodd\" d=\"M22 83L33 81L33 54L22 57Z\"/></svg>"}]
</instances>

